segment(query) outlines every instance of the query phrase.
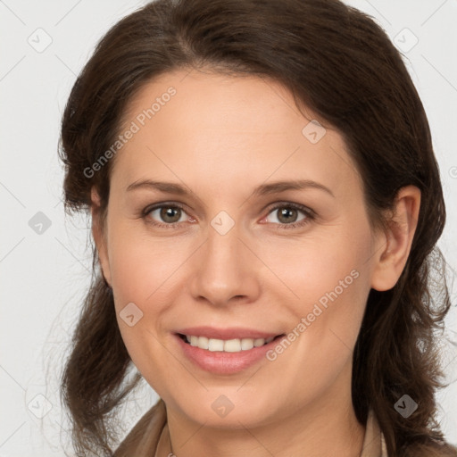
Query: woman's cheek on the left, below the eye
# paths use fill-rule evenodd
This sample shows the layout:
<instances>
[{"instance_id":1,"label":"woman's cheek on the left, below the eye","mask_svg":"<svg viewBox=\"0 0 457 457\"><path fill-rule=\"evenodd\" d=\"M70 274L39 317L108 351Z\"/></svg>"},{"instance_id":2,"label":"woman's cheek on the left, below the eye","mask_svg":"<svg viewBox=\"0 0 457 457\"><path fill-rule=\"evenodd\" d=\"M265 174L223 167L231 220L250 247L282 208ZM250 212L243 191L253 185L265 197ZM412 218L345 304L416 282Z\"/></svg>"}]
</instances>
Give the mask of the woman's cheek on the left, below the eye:
<instances>
[{"instance_id":1,"label":"woman's cheek on the left, below the eye","mask_svg":"<svg viewBox=\"0 0 457 457\"><path fill-rule=\"evenodd\" d=\"M110 235L110 269L120 334L131 360L155 387L160 379L157 373L166 372L169 362L160 342L162 315L175 301L175 288L170 286L173 271L179 269L185 256L175 245L170 252L163 240L139 235L127 224L112 228ZM131 315L130 321L126 319Z\"/></svg>"}]
</instances>

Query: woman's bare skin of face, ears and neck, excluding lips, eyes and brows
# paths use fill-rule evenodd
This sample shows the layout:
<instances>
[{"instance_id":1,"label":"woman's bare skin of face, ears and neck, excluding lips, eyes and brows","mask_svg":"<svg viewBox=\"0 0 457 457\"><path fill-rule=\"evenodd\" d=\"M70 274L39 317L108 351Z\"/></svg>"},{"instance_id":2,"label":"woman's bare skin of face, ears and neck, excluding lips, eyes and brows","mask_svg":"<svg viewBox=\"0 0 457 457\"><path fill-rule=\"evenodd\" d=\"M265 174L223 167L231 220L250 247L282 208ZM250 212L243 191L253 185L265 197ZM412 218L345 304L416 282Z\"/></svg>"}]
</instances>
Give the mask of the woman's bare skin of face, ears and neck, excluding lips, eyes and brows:
<instances>
[{"instance_id":1,"label":"woman's bare skin of face, ears and neck, excluding lips, eyes and brows","mask_svg":"<svg viewBox=\"0 0 457 457\"><path fill-rule=\"evenodd\" d=\"M309 109L305 117L287 89L267 79L167 73L131 100L125 127L170 86L176 96L115 156L104 225L95 189L92 211L121 335L166 403L173 452L360 455L365 424L351 400L353 347L370 288L394 287L403 270L419 189L401 189L388 230L371 228L343 138L327 129L312 144L302 129L319 118ZM175 182L189 195L127 191L139 179ZM253 196L254 187L283 179L311 179L333 196L311 187ZM178 227L154 227L151 221L172 219L159 211L141 217L162 202L184 205ZM279 228L287 221L270 208L287 203L317 216L303 227ZM225 235L211 225L220 211L235 221ZM298 211L289 220L303 219ZM352 270L358 278L275 361L215 375L188 361L172 336L203 324L287 333ZM131 302L144 313L133 327L120 319ZM212 410L220 395L234 404L224 418Z\"/></svg>"}]
</instances>

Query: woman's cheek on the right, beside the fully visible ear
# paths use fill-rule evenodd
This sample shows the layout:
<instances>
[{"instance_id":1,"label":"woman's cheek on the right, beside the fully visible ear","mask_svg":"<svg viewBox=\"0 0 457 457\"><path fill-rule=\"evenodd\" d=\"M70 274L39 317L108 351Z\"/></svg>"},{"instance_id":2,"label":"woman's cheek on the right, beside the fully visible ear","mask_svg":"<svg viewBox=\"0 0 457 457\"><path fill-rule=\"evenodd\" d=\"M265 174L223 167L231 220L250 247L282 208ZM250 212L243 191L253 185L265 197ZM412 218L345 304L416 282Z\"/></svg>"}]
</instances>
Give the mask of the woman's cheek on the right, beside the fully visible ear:
<instances>
[{"instance_id":1,"label":"woman's cheek on the right, beside the fully visible ear","mask_svg":"<svg viewBox=\"0 0 457 457\"><path fill-rule=\"evenodd\" d=\"M278 277L295 295L295 328L302 324L295 331L306 334L303 344L312 342L330 358L353 348L370 292L370 229L364 224L339 228L331 237L295 243L293 252L283 250L275 263Z\"/></svg>"}]
</instances>

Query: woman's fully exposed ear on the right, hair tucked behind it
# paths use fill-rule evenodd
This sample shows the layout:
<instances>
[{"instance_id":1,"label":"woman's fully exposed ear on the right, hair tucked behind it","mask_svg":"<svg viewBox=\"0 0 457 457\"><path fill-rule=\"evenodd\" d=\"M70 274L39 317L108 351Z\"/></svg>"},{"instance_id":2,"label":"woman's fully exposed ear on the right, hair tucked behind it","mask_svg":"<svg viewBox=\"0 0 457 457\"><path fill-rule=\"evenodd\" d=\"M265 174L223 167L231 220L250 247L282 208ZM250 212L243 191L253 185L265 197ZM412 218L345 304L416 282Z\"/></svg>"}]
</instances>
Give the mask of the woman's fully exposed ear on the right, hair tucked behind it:
<instances>
[{"instance_id":1,"label":"woman's fully exposed ear on the right, hair tucked behind it","mask_svg":"<svg viewBox=\"0 0 457 457\"><path fill-rule=\"evenodd\" d=\"M420 189L402 187L395 197L395 208L388 229L379 237L371 287L378 291L389 290L400 278L411 251L420 210Z\"/></svg>"}]
</instances>

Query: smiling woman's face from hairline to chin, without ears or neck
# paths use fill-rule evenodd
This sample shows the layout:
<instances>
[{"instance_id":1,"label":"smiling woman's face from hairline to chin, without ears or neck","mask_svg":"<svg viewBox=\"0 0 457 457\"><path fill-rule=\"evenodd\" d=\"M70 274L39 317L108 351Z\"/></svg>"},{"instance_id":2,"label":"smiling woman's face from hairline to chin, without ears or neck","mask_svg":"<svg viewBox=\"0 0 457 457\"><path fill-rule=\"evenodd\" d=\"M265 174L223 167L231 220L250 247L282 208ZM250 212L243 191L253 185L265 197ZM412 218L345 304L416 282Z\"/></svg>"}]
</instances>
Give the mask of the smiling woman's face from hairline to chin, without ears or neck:
<instances>
[{"instance_id":1,"label":"smiling woman's face from hairline to chin, without ears or neck","mask_svg":"<svg viewBox=\"0 0 457 457\"><path fill-rule=\"evenodd\" d=\"M129 104L100 257L132 361L188 420L350 402L382 243L342 137L306 114L270 80L197 71Z\"/></svg>"}]
</instances>

